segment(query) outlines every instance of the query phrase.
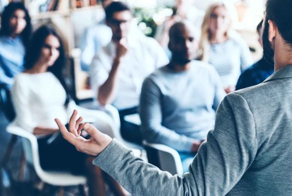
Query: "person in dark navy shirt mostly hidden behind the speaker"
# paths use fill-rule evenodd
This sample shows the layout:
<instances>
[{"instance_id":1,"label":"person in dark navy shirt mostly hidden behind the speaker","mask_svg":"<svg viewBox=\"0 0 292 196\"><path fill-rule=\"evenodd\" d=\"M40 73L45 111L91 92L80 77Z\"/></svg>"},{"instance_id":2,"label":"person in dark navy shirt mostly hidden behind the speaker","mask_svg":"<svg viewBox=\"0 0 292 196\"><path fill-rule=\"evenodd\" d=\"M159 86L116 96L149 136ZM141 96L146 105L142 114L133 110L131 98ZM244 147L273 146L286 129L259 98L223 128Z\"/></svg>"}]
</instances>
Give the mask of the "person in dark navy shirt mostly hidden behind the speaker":
<instances>
[{"instance_id":1,"label":"person in dark navy shirt mostly hidden behind the speaker","mask_svg":"<svg viewBox=\"0 0 292 196\"><path fill-rule=\"evenodd\" d=\"M256 31L259 36L259 43L263 46L262 42L262 24L263 20L257 25ZM274 73L274 64L268 63L264 57L262 57L258 62L252 65L250 68L245 70L239 77L236 85L236 89L244 89L247 87L255 86L270 75Z\"/></svg>"}]
</instances>

